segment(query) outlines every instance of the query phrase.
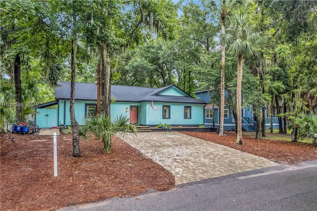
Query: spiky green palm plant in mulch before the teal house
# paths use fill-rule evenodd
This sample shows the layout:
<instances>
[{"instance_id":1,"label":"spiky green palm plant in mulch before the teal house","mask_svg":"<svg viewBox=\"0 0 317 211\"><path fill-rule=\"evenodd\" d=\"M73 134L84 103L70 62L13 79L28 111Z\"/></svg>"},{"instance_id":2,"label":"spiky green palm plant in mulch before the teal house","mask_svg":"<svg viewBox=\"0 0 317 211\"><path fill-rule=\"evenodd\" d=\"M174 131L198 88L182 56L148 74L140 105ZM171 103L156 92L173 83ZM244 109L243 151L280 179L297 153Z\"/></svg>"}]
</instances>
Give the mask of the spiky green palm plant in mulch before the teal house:
<instances>
[{"instance_id":1,"label":"spiky green palm plant in mulch before the teal house","mask_svg":"<svg viewBox=\"0 0 317 211\"><path fill-rule=\"evenodd\" d=\"M135 124L128 124L128 122L129 118L122 115L114 119L104 113L97 116L87 116L80 127L80 133L86 140L94 135L96 139L101 141L105 153L109 154L114 136L124 138L128 132L136 134Z\"/></svg>"}]
</instances>

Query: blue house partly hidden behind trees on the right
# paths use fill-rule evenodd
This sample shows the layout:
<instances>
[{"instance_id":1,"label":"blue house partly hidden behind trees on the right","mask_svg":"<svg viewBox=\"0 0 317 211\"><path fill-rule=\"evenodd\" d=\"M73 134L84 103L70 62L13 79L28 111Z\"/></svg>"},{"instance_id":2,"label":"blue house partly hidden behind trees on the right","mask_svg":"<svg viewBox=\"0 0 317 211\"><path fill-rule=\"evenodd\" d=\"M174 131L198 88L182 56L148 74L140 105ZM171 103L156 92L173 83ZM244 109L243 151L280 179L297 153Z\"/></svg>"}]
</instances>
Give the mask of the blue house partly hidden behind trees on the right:
<instances>
[{"instance_id":1,"label":"blue house partly hidden behind trees on the right","mask_svg":"<svg viewBox=\"0 0 317 211\"><path fill-rule=\"evenodd\" d=\"M195 96L206 102L206 106L204 107L204 122L205 125L212 126L212 121L214 119L215 126L219 125L220 122L220 114L219 114L219 107L216 105L209 104L210 102L210 94L207 90L195 92ZM228 92L225 91L225 97L227 97ZM214 116L213 110L214 109ZM261 112L262 115L262 112ZM270 127L270 118L267 117L267 110L265 109L265 127L266 129L269 129ZM232 115L230 106L224 106L224 123L223 123L223 129L224 130L235 130L235 119ZM273 117L273 128L278 128L278 119L277 117ZM242 108L242 129L245 131L255 131L256 130L256 123L254 121L253 117L253 110L252 107L244 107Z\"/></svg>"}]
</instances>

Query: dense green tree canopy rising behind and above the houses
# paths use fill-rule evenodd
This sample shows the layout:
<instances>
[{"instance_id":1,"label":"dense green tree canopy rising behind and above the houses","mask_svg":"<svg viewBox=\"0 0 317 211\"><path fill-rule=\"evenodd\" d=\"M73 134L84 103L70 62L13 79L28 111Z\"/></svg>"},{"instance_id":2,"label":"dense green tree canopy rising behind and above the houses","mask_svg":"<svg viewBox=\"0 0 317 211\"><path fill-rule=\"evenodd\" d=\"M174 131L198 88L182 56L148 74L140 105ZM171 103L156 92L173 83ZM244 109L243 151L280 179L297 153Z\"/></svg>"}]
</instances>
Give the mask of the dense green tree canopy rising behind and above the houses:
<instances>
[{"instance_id":1,"label":"dense green tree canopy rising behind and above the houses","mask_svg":"<svg viewBox=\"0 0 317 211\"><path fill-rule=\"evenodd\" d=\"M245 73L241 90L247 99L242 106L253 106L258 117L265 107L280 125L282 121L291 125L299 113L317 112L313 77L317 1L1 0L0 4L1 102L52 101L58 81L72 78L75 39L74 80L97 83L101 74L106 113L111 84L175 84L189 94L209 90L212 104L226 104L237 112L238 66ZM240 29L233 24L250 19L241 22ZM257 49L251 43L263 44L259 38L264 32L269 42ZM237 55L243 55L241 64ZM225 103L220 101L223 88L228 91ZM34 114L31 108L3 105L1 128L4 122ZM295 133L296 125L292 126ZM286 130L280 126L280 132Z\"/></svg>"}]
</instances>

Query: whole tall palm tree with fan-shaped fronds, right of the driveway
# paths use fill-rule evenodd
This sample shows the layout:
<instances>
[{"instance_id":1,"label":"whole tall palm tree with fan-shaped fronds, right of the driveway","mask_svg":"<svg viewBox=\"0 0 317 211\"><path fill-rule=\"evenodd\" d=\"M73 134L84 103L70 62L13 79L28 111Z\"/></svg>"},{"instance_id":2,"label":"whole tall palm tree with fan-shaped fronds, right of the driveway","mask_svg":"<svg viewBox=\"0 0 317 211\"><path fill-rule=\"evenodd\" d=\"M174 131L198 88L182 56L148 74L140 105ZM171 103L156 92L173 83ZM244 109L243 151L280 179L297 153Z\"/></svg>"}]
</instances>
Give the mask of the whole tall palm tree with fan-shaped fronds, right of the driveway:
<instances>
[{"instance_id":1,"label":"whole tall palm tree with fan-shaped fronds, right of the driveway","mask_svg":"<svg viewBox=\"0 0 317 211\"><path fill-rule=\"evenodd\" d=\"M233 17L229 17L231 28L228 34L221 35L221 44L229 46L228 51L236 53L238 56L238 76L237 76L237 144L242 144L242 113L241 113L241 87L242 87L242 62L243 56L253 54L256 46L264 44L266 37L256 33L256 25L252 24L247 13L239 12Z\"/></svg>"}]
</instances>

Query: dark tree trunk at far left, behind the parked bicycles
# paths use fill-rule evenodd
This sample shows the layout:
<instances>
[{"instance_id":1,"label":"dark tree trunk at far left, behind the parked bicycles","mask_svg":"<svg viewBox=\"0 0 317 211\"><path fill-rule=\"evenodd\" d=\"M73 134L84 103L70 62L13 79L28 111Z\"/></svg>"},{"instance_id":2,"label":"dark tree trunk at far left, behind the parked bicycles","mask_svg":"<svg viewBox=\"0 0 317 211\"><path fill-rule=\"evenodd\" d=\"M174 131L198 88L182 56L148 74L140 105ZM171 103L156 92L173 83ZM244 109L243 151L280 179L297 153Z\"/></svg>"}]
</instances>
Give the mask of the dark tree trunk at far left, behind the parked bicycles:
<instances>
[{"instance_id":1,"label":"dark tree trunk at far left, behind the parked bicycles","mask_svg":"<svg viewBox=\"0 0 317 211\"><path fill-rule=\"evenodd\" d=\"M21 88L21 57L20 53L15 55L14 59L14 88L15 88L15 116L16 120L21 121L22 119L22 88Z\"/></svg>"}]
</instances>

